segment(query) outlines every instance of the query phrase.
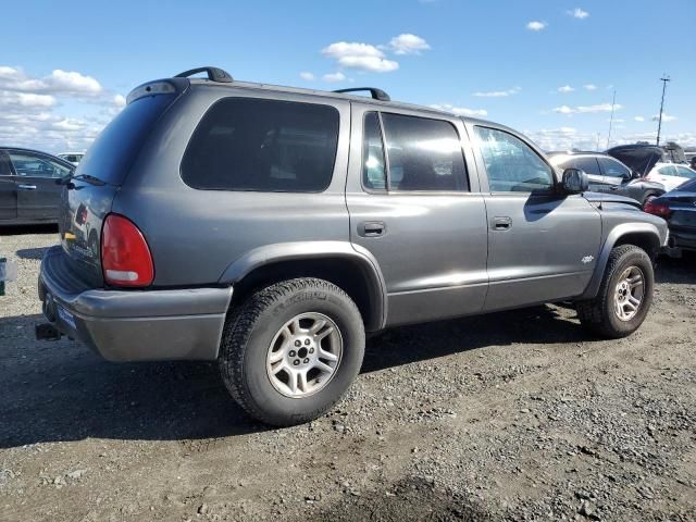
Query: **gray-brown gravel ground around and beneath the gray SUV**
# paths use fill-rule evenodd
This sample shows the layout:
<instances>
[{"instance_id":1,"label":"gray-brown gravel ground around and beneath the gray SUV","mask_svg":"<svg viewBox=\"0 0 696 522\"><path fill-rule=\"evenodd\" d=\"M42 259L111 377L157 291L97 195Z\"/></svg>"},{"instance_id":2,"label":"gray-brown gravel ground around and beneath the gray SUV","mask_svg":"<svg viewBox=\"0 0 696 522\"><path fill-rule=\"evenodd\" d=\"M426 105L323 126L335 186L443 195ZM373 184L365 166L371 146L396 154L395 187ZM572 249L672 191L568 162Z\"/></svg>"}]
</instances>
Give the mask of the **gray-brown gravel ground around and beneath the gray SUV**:
<instances>
[{"instance_id":1,"label":"gray-brown gravel ground around and beneath the gray SUV","mask_svg":"<svg viewBox=\"0 0 696 522\"><path fill-rule=\"evenodd\" d=\"M643 327L537 307L388 331L349 396L270 430L214 364L37 343L48 228L0 236L0 520L696 520L696 262Z\"/></svg>"}]
</instances>

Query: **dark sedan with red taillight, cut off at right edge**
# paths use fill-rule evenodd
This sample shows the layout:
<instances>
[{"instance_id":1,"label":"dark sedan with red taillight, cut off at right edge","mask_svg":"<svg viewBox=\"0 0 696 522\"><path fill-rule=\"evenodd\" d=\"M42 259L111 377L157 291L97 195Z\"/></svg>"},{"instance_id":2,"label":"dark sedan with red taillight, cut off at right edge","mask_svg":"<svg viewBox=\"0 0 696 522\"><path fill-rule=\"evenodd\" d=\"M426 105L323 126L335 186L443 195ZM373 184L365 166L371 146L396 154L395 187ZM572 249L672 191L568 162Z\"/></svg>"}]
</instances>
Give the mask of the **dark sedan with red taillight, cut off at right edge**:
<instances>
[{"instance_id":1,"label":"dark sedan with red taillight, cut off at right edge","mask_svg":"<svg viewBox=\"0 0 696 522\"><path fill-rule=\"evenodd\" d=\"M667 253L681 256L682 250L696 251L696 179L649 201L645 211L667 220L670 227Z\"/></svg>"}]
</instances>

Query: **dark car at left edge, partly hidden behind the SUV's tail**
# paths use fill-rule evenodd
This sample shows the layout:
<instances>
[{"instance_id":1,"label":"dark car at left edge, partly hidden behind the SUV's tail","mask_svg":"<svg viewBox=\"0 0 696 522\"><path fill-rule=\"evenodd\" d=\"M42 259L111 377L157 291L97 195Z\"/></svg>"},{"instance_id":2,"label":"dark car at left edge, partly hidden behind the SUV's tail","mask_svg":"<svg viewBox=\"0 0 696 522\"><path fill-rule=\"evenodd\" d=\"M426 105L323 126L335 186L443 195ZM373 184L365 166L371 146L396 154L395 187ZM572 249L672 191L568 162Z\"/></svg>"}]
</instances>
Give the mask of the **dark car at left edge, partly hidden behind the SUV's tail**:
<instances>
[{"instance_id":1,"label":"dark car at left edge, partly hidden behind the SUV's tail","mask_svg":"<svg viewBox=\"0 0 696 522\"><path fill-rule=\"evenodd\" d=\"M58 223L60 182L74 170L55 156L0 147L0 226Z\"/></svg>"}]
</instances>

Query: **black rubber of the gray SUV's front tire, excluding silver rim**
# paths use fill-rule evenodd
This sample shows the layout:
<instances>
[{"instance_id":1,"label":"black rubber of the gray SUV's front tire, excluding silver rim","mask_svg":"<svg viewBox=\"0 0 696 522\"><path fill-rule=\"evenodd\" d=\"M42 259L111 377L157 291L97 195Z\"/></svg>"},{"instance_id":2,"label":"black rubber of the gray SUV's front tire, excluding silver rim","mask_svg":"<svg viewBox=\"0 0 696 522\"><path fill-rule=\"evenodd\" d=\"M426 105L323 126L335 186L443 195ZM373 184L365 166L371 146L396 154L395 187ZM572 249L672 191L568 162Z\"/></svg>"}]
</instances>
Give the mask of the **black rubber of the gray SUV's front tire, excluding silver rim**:
<instances>
[{"instance_id":1,"label":"black rubber of the gray SUV's front tire, excluding silver rim","mask_svg":"<svg viewBox=\"0 0 696 522\"><path fill-rule=\"evenodd\" d=\"M622 321L614 311L614 294L621 275L630 266L635 266L643 273L644 295L635 315L629 321ZM634 245L616 247L609 254L597 297L575 302L577 318L583 326L601 337L626 337L643 324L652 302L654 288L652 261L645 250Z\"/></svg>"}]
</instances>

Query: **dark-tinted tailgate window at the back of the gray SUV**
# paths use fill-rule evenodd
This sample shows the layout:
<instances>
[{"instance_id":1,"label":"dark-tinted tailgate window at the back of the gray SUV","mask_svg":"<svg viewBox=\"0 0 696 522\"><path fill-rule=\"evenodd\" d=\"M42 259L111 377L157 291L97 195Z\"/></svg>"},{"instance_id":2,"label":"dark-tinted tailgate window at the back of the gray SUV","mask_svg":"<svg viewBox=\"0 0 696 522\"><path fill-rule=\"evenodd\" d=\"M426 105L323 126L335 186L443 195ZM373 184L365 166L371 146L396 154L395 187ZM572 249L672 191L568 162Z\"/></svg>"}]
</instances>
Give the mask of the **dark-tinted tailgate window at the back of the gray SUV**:
<instances>
[{"instance_id":1,"label":"dark-tinted tailgate window at the back of the gray SUV","mask_svg":"<svg viewBox=\"0 0 696 522\"><path fill-rule=\"evenodd\" d=\"M152 125L176 95L140 98L127 104L107 125L77 166L110 185L121 185Z\"/></svg>"}]
</instances>

